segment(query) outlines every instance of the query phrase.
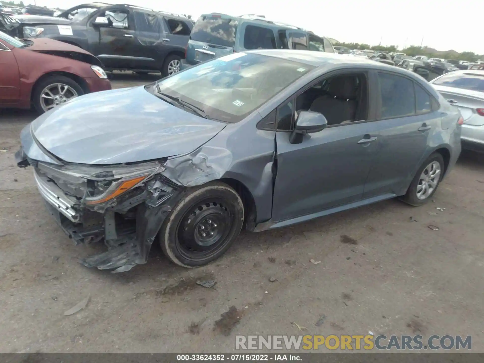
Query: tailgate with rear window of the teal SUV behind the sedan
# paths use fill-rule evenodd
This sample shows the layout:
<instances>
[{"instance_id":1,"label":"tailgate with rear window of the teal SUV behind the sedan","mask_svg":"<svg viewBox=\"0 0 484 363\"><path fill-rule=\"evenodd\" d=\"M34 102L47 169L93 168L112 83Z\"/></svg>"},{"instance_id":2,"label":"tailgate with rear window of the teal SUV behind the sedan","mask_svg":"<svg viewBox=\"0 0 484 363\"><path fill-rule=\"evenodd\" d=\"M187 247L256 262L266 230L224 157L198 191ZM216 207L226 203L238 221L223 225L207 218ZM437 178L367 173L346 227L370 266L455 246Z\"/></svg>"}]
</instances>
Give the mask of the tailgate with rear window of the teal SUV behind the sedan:
<instances>
[{"instance_id":1,"label":"tailgate with rear window of the teal SUV behind the sedan","mask_svg":"<svg viewBox=\"0 0 484 363\"><path fill-rule=\"evenodd\" d=\"M233 53L238 28L239 21L225 15L201 16L190 33L187 63L198 64Z\"/></svg>"}]
</instances>

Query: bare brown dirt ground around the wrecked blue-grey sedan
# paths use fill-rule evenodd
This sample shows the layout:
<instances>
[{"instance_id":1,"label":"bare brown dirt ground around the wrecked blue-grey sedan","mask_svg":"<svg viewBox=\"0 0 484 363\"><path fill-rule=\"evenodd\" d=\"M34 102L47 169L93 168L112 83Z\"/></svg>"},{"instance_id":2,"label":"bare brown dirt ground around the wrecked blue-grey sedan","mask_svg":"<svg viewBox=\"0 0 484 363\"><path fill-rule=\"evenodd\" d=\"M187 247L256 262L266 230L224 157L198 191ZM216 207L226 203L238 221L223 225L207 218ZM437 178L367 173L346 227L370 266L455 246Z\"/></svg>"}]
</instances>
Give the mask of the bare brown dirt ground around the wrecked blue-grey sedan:
<instances>
[{"instance_id":1,"label":"bare brown dirt ground around the wrecked blue-grey sedan","mask_svg":"<svg viewBox=\"0 0 484 363\"><path fill-rule=\"evenodd\" d=\"M151 79L115 75L113 86ZM0 112L0 352L232 352L236 333L368 331L472 335L472 351L484 352L481 155L463 153L420 208L388 200L243 232L224 257L192 270L156 245L146 265L111 274L77 262L103 246L75 246L46 212L32 169L15 166L35 114Z\"/></svg>"}]
</instances>

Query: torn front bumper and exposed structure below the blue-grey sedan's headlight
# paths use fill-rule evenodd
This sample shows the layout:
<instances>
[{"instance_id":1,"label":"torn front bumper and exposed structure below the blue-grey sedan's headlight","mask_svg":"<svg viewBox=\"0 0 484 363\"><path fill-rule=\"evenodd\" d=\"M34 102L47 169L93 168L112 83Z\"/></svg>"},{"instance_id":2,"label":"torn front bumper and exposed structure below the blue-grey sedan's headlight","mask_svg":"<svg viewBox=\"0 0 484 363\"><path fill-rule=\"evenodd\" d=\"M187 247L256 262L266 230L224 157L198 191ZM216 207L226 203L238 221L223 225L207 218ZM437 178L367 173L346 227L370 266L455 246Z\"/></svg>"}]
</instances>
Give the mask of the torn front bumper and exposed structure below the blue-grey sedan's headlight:
<instances>
[{"instance_id":1,"label":"torn front bumper and exposed structure below the blue-grey sedan's headlight","mask_svg":"<svg viewBox=\"0 0 484 363\"><path fill-rule=\"evenodd\" d=\"M22 150L16 158L19 166L33 166L46 208L69 238L76 244L105 242L106 252L79 260L100 270L124 272L146 263L161 225L185 189L156 172L119 197L89 205L76 193L84 184L76 184L75 178L64 179L46 164L27 160ZM161 164L160 170L165 170Z\"/></svg>"}]
</instances>

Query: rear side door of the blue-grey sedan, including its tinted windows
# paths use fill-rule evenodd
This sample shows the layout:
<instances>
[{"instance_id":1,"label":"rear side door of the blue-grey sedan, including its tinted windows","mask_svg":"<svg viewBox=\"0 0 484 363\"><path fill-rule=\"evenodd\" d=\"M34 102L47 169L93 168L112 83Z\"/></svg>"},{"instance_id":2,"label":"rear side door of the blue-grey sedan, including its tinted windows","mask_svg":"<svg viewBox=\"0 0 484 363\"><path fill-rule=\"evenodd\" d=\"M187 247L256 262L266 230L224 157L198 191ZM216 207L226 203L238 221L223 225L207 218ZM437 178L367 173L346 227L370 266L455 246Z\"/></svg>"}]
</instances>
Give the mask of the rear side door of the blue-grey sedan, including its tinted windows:
<instances>
[{"instance_id":1,"label":"rear side door of the blue-grey sedan, including its tinted windows","mask_svg":"<svg viewBox=\"0 0 484 363\"><path fill-rule=\"evenodd\" d=\"M437 100L412 79L391 72L378 72L377 79L379 144L363 198L405 193L442 117Z\"/></svg>"}]
</instances>

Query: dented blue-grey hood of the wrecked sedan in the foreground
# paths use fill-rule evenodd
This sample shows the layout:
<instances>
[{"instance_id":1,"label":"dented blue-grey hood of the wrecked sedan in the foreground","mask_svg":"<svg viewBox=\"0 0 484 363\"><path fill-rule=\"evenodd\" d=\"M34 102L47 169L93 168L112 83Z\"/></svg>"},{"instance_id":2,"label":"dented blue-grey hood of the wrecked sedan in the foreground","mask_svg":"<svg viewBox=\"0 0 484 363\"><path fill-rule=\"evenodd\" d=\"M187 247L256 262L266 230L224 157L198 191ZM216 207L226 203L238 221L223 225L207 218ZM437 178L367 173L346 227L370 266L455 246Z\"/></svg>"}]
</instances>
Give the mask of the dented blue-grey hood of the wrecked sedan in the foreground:
<instances>
[{"instance_id":1,"label":"dented blue-grey hood of the wrecked sedan in the foreground","mask_svg":"<svg viewBox=\"0 0 484 363\"><path fill-rule=\"evenodd\" d=\"M108 165L194 151L225 126L136 87L78 97L32 121L31 131L64 161Z\"/></svg>"}]
</instances>

